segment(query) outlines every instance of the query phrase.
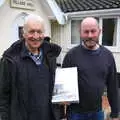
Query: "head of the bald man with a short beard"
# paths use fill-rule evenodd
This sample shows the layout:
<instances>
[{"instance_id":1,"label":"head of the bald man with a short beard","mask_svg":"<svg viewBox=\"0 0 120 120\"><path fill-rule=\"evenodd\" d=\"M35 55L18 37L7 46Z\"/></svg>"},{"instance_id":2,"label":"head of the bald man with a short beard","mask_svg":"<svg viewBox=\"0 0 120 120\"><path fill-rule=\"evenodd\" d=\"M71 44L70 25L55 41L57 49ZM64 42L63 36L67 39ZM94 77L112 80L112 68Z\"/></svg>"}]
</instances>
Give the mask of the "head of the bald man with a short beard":
<instances>
[{"instance_id":1,"label":"head of the bald man with a short beard","mask_svg":"<svg viewBox=\"0 0 120 120\"><path fill-rule=\"evenodd\" d=\"M97 20L93 17L83 19L80 26L80 37L86 48L94 50L98 46L100 28Z\"/></svg>"}]
</instances>

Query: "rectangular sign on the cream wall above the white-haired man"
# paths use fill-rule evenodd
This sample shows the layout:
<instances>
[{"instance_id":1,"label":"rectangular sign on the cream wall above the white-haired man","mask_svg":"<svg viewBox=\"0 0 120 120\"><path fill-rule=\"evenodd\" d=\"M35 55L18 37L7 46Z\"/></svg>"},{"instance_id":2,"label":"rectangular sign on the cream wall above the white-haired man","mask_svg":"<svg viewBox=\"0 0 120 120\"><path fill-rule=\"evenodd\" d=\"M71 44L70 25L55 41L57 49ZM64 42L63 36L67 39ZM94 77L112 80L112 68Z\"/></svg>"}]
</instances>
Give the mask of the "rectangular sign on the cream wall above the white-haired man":
<instances>
[{"instance_id":1,"label":"rectangular sign on the cream wall above the white-haired man","mask_svg":"<svg viewBox=\"0 0 120 120\"><path fill-rule=\"evenodd\" d=\"M11 0L11 7L35 10L34 0Z\"/></svg>"}]
</instances>

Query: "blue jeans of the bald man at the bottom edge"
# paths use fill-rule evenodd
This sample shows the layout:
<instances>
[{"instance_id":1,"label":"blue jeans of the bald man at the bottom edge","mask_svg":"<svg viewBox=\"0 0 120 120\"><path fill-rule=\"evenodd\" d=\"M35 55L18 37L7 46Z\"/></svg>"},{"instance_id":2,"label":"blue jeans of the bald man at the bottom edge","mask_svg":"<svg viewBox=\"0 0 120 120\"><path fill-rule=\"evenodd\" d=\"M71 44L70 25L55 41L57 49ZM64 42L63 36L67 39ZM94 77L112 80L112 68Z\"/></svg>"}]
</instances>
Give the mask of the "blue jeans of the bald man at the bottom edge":
<instances>
[{"instance_id":1,"label":"blue jeans of the bald man at the bottom edge","mask_svg":"<svg viewBox=\"0 0 120 120\"><path fill-rule=\"evenodd\" d=\"M104 112L69 113L68 120L104 120Z\"/></svg>"}]
</instances>

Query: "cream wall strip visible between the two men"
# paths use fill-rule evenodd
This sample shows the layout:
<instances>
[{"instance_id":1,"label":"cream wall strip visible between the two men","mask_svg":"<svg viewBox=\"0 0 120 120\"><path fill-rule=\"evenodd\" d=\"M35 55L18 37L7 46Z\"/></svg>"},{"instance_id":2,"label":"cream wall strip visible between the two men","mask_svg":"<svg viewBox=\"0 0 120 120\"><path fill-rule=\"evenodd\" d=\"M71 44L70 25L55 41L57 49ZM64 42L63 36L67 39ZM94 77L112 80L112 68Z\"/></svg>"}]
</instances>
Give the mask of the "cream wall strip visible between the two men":
<instances>
[{"instance_id":1,"label":"cream wall strip visible between the two men","mask_svg":"<svg viewBox=\"0 0 120 120\"><path fill-rule=\"evenodd\" d=\"M58 62L62 64L63 58L69 50L68 44L70 40L69 24L59 25L57 21L51 22L51 41L60 45L62 51L58 57Z\"/></svg>"}]
</instances>

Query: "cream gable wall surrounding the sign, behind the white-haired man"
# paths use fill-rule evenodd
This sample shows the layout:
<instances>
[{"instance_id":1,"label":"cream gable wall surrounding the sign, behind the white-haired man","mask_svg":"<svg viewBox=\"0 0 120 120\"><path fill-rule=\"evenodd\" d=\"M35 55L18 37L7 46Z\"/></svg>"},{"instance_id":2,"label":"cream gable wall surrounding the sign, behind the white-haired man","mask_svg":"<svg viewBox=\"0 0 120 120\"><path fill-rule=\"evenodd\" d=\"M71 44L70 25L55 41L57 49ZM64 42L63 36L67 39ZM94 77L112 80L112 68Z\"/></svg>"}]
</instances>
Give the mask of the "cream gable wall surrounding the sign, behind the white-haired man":
<instances>
[{"instance_id":1,"label":"cream gable wall surrounding the sign, behind the white-haired man","mask_svg":"<svg viewBox=\"0 0 120 120\"><path fill-rule=\"evenodd\" d=\"M40 0L35 1L35 10L26 10L10 7L10 0L6 0L0 7L0 56L17 38L16 27L23 25L24 16L27 14L38 14L45 20L45 35L51 35L50 21L44 12Z\"/></svg>"}]
</instances>

